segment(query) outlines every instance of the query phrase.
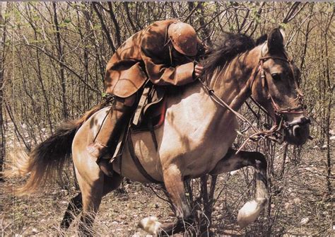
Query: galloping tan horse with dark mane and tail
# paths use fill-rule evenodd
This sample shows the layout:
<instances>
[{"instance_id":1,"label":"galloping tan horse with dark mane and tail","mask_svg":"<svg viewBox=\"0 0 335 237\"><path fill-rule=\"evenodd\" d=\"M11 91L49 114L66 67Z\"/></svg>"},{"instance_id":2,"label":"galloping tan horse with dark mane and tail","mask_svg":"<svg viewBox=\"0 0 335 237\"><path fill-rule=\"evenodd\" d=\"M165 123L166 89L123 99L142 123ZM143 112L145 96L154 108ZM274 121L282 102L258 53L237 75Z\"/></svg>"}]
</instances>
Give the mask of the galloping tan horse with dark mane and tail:
<instances>
[{"instance_id":1,"label":"galloping tan horse with dark mane and tail","mask_svg":"<svg viewBox=\"0 0 335 237\"><path fill-rule=\"evenodd\" d=\"M158 149L150 132L131 135L134 153L146 173L165 185L177 215L173 224L163 225L153 219L142 221L142 227L151 233L172 233L182 229L182 221L190 218L191 209L184 190L186 178L253 166L256 192L254 200L240 209L237 221L241 227L254 221L268 201L266 159L258 152L236 153L231 148L237 136L237 118L209 96L213 91L216 98L233 110L238 110L252 96L278 129L282 129L284 139L290 144L304 144L309 137L310 120L305 117L297 83L299 69L286 53L281 30L272 30L259 45L245 35L228 36L222 47L208 55L204 83L197 81L177 93L167 93L165 122L155 130ZM61 171L66 157L72 154L81 193L69 204L61 223L65 229L74 218L70 213L78 215L82 211L79 229L84 231L92 225L102 197L119 187L124 177L150 182L131 158L129 144L124 146L122 159L114 161L112 178L102 173L86 151L108 110L92 110L81 120L59 129L33 150L23 168L25 173L30 172L30 178L19 191L32 191L59 175L57 171Z\"/></svg>"}]
</instances>

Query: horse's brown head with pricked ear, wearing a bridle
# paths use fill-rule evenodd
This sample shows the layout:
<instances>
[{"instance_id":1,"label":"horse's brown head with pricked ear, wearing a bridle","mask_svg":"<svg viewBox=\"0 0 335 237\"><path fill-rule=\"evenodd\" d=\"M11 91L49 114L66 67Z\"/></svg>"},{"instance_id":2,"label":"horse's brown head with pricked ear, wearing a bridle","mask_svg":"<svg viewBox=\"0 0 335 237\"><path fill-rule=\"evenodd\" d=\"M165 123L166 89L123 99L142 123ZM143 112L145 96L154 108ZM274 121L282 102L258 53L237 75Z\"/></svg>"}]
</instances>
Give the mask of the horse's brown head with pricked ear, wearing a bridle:
<instances>
[{"instance_id":1,"label":"horse's brown head with pricked ear, wearing a bridle","mask_svg":"<svg viewBox=\"0 0 335 237\"><path fill-rule=\"evenodd\" d=\"M261 57L251 84L252 97L284 129L288 143L304 144L310 135L310 119L305 116L298 88L300 70L286 53L281 30L272 30L259 48Z\"/></svg>"}]
</instances>

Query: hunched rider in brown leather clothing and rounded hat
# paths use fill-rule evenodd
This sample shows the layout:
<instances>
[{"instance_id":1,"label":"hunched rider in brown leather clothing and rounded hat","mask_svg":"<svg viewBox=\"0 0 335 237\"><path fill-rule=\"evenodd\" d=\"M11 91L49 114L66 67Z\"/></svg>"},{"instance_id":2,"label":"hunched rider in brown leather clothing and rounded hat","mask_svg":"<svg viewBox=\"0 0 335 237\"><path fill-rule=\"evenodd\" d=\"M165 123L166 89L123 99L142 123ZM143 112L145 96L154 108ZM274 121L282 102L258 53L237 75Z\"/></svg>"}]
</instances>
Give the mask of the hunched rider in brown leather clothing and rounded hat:
<instances>
[{"instance_id":1,"label":"hunched rider in brown leather clothing and rounded hat","mask_svg":"<svg viewBox=\"0 0 335 237\"><path fill-rule=\"evenodd\" d=\"M156 21L118 48L105 73L105 92L114 96L114 104L88 146L88 152L97 158L105 174L112 175L108 165L110 156L104 155L115 148L147 79L157 86L192 83L203 69L195 59L204 51L205 45L194 28L177 20Z\"/></svg>"}]
</instances>

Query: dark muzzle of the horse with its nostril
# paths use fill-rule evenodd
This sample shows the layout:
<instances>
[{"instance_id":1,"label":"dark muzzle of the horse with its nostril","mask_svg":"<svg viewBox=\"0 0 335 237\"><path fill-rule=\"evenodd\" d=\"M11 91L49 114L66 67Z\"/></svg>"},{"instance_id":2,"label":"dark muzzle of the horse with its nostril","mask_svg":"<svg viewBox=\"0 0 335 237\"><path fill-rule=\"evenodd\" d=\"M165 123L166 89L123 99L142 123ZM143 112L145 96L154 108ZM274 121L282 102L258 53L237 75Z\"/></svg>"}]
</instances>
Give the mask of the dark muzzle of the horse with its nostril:
<instances>
[{"instance_id":1,"label":"dark muzzle of the horse with its nostril","mask_svg":"<svg viewBox=\"0 0 335 237\"><path fill-rule=\"evenodd\" d=\"M310 118L299 117L292 122L285 122L284 124L285 137L289 144L300 146L305 144L310 137Z\"/></svg>"}]
</instances>

